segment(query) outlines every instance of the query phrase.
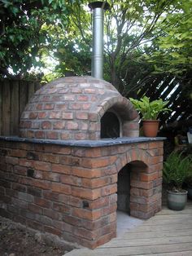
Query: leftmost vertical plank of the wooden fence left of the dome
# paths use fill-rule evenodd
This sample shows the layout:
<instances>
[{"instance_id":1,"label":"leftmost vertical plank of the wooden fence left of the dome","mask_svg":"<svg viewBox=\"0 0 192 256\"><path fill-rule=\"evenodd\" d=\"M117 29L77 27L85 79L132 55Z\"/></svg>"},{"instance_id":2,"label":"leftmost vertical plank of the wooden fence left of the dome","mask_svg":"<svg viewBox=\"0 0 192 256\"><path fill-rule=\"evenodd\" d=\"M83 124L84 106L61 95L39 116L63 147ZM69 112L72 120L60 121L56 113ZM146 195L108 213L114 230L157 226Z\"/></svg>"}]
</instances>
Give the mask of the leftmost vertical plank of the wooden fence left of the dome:
<instances>
[{"instance_id":1,"label":"leftmost vertical plank of the wooden fence left of the dome","mask_svg":"<svg viewBox=\"0 0 192 256\"><path fill-rule=\"evenodd\" d=\"M10 82L5 80L2 86L2 135L11 135L10 116L11 116L11 90Z\"/></svg>"}]
</instances>

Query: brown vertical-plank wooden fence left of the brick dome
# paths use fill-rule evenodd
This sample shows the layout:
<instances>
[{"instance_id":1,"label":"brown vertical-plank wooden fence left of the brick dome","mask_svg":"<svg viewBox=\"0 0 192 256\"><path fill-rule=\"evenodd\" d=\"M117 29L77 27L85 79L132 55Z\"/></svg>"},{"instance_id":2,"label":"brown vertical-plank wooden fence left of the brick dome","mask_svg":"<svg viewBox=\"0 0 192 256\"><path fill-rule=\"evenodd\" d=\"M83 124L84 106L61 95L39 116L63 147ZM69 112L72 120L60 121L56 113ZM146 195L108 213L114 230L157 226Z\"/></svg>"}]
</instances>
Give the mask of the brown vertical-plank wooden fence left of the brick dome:
<instances>
[{"instance_id":1,"label":"brown vertical-plank wooden fence left of the brick dome","mask_svg":"<svg viewBox=\"0 0 192 256\"><path fill-rule=\"evenodd\" d=\"M19 135L20 115L39 82L0 80L0 135Z\"/></svg>"}]
</instances>

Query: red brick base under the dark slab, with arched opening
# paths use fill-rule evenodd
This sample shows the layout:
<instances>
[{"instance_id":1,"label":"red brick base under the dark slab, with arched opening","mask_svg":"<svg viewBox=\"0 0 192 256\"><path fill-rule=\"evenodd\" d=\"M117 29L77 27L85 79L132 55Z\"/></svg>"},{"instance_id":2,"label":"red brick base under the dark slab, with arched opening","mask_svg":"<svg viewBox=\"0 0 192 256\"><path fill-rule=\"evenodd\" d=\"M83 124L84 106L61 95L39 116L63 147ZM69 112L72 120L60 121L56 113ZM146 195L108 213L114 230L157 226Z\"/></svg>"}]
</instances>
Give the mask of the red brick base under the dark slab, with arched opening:
<instances>
[{"instance_id":1,"label":"red brick base under the dark slab, with arched opening","mask_svg":"<svg viewBox=\"0 0 192 256\"><path fill-rule=\"evenodd\" d=\"M131 169L130 213L161 209L163 142L98 148L0 140L0 214L94 248L116 236L117 174Z\"/></svg>"}]
</instances>

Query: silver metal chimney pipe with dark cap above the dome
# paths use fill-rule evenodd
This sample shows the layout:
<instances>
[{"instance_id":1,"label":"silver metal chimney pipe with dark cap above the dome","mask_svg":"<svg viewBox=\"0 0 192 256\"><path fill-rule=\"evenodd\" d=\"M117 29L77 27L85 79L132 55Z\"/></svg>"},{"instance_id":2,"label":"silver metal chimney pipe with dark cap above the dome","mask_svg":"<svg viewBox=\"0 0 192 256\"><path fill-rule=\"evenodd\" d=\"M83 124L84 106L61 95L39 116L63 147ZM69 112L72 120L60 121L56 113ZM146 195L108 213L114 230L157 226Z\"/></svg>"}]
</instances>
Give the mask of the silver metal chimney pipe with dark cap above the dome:
<instances>
[{"instance_id":1,"label":"silver metal chimney pipe with dark cap above the dome","mask_svg":"<svg viewBox=\"0 0 192 256\"><path fill-rule=\"evenodd\" d=\"M107 2L90 2L93 10L93 52L91 61L92 77L103 79L103 16L104 10L109 9Z\"/></svg>"}]
</instances>

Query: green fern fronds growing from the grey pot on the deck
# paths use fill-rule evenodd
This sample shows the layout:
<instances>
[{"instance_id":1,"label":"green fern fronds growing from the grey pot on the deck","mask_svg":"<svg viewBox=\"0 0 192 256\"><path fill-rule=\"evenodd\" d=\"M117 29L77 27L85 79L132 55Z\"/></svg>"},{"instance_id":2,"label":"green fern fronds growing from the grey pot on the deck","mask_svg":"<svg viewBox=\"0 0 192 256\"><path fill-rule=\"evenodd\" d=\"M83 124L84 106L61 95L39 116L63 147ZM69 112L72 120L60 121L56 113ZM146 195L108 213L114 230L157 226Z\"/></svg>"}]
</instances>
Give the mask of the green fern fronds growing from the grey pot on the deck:
<instances>
[{"instance_id":1,"label":"green fern fronds growing from the grey pot on the deck","mask_svg":"<svg viewBox=\"0 0 192 256\"><path fill-rule=\"evenodd\" d=\"M183 157L182 152L175 151L164 161L164 182L172 191L182 191L182 185L191 173L191 164L190 157Z\"/></svg>"}]
</instances>

